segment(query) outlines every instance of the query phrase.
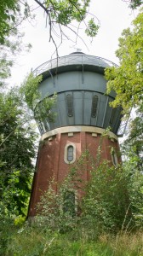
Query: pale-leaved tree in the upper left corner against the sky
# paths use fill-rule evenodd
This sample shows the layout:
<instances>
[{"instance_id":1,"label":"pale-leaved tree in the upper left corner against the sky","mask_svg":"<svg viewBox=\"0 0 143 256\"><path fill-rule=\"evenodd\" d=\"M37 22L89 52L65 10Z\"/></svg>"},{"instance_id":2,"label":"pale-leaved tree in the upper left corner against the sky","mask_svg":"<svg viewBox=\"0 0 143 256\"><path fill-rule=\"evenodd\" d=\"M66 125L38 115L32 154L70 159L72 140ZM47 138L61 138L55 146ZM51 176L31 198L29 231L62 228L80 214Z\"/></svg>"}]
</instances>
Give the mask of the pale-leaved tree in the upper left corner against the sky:
<instances>
[{"instance_id":1,"label":"pale-leaved tree in the upper left corner against the sky","mask_svg":"<svg viewBox=\"0 0 143 256\"><path fill-rule=\"evenodd\" d=\"M8 0L0 3L0 85L9 78L10 68L14 64L14 55L22 49L30 49L31 44L23 45L23 33L18 29L20 23L30 16L29 6L21 13L20 1Z\"/></svg>"}]
</instances>

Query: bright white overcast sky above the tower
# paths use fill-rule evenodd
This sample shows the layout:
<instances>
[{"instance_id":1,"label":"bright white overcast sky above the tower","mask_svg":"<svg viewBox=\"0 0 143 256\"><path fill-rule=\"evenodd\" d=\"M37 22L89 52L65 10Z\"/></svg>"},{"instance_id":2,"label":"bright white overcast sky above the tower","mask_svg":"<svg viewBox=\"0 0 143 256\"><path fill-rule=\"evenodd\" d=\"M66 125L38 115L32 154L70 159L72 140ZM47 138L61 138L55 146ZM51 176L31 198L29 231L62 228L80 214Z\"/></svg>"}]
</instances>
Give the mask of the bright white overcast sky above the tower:
<instances>
[{"instance_id":1,"label":"bright white overcast sky above the tower","mask_svg":"<svg viewBox=\"0 0 143 256\"><path fill-rule=\"evenodd\" d=\"M34 0L29 0L31 8L37 6ZM118 64L118 59L115 55L117 49L118 38L121 36L123 29L131 26L138 11L129 9L129 3L122 0L91 0L89 12L95 15L100 20L100 30L92 43L83 32L80 30L80 36L87 44L88 48L83 44L83 41L78 39L77 45L73 45L72 41L65 40L59 48L59 55L69 55L70 53L81 49L82 52L88 55L96 55ZM45 15L43 9L37 8L34 11L35 20L31 22L25 21L20 26L20 31L25 32L23 43L32 45L31 52L21 52L15 57L15 64L12 68L12 76L9 79L11 85L20 85L26 78L26 75L36 67L55 58L54 44L49 43L49 28L46 27ZM70 35L70 32L66 32ZM74 35L72 34L73 38ZM59 43L56 38L57 44ZM54 54L54 55L53 55Z\"/></svg>"}]
</instances>

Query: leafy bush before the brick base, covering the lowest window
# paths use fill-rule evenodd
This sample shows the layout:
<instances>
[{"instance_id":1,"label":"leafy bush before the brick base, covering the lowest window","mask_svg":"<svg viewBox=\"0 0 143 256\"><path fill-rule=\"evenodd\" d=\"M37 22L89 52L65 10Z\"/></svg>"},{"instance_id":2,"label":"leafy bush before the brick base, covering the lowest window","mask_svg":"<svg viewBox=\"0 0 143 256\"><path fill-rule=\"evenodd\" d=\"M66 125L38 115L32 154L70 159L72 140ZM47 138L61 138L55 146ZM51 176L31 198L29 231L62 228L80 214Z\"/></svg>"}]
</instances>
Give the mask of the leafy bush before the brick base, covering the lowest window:
<instances>
[{"instance_id":1,"label":"leafy bush before the brick base, covering the lowest window","mask_svg":"<svg viewBox=\"0 0 143 256\"><path fill-rule=\"evenodd\" d=\"M78 218L72 212L72 202L65 197L72 187L64 183L56 193L53 189L55 185L54 181L50 183L49 189L43 193L41 201L37 204L36 222L46 230L65 233L76 228Z\"/></svg>"}]
</instances>

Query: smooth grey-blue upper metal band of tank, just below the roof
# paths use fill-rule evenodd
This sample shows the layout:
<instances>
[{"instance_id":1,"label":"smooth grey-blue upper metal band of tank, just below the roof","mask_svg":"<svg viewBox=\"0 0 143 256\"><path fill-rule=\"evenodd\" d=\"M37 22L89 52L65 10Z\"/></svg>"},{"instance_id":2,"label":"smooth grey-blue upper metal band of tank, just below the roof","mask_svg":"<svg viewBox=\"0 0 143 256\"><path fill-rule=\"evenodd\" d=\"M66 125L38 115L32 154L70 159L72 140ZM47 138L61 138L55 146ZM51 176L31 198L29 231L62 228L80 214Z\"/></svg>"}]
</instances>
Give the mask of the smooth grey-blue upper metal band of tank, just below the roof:
<instances>
[{"instance_id":1,"label":"smooth grey-blue upper metal band of tank, just below the roof","mask_svg":"<svg viewBox=\"0 0 143 256\"><path fill-rule=\"evenodd\" d=\"M54 92L60 93L67 90L93 90L100 93L106 93L106 79L103 74L92 72L66 72L60 73L54 78L43 80L38 90L42 96L51 96ZM115 97L111 92L110 96Z\"/></svg>"}]
</instances>

